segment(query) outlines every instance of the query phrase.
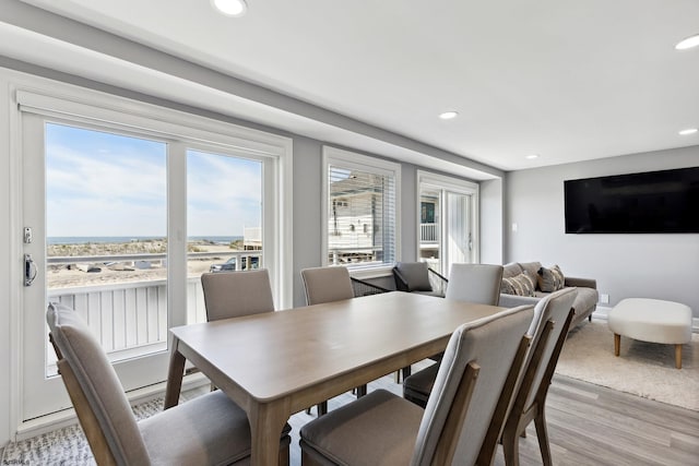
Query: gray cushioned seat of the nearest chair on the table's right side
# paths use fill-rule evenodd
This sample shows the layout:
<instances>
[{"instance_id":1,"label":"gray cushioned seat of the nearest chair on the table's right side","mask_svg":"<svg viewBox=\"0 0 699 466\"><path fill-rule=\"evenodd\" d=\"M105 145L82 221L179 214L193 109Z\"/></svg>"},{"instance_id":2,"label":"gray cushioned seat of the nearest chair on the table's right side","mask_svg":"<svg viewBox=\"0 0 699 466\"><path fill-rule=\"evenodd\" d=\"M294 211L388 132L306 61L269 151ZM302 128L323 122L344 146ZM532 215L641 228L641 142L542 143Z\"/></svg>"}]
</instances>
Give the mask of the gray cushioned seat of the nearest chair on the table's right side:
<instances>
[{"instance_id":1,"label":"gray cushioned seat of the nearest chair on the table's right side","mask_svg":"<svg viewBox=\"0 0 699 466\"><path fill-rule=\"evenodd\" d=\"M407 465L424 413L392 393L374 391L304 426L304 454L316 464Z\"/></svg>"}]
</instances>

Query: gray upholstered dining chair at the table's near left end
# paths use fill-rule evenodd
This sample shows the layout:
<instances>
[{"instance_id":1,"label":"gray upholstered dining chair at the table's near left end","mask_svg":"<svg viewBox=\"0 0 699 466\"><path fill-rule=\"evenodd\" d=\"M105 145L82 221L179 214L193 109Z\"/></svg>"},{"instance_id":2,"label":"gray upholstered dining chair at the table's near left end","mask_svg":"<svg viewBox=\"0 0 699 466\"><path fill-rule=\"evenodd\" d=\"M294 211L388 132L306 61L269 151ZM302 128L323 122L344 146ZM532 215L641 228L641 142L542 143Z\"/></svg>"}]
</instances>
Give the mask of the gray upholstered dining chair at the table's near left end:
<instances>
[{"instance_id":1,"label":"gray upholstered dining chair at the table's near left end","mask_svg":"<svg viewBox=\"0 0 699 466\"><path fill-rule=\"evenodd\" d=\"M78 313L48 306L49 339L58 370L98 465L248 464L246 413L222 391L137 421L114 367ZM280 464L288 465L288 425Z\"/></svg>"}]
</instances>

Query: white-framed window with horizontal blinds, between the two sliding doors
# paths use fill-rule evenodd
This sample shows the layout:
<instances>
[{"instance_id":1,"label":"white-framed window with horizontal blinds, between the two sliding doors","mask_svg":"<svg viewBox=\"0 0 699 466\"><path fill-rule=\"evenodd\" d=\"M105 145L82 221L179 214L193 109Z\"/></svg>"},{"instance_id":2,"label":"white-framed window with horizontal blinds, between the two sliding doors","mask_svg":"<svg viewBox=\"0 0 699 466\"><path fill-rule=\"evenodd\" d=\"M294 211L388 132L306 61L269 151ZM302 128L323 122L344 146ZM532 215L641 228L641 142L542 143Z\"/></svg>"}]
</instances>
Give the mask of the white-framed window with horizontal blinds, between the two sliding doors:
<instances>
[{"instance_id":1,"label":"white-framed window with horizontal blinds, between the two sliding doors","mask_svg":"<svg viewBox=\"0 0 699 466\"><path fill-rule=\"evenodd\" d=\"M325 264L392 265L399 251L400 165L323 148Z\"/></svg>"}]
</instances>

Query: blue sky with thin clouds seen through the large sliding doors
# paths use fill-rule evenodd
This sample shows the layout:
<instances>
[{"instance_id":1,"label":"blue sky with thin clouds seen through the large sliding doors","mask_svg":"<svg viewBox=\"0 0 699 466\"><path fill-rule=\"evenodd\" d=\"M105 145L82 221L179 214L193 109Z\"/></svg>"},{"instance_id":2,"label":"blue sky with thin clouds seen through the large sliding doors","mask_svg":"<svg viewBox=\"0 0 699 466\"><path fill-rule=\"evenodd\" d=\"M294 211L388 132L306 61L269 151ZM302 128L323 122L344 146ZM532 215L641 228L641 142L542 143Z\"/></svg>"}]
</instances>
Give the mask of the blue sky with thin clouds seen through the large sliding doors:
<instances>
[{"instance_id":1,"label":"blue sky with thin clouds seen through the large sliding doors","mask_svg":"<svg viewBox=\"0 0 699 466\"><path fill-rule=\"evenodd\" d=\"M242 236L259 227L262 164L188 151L188 236ZM164 237L167 144L46 126L48 237Z\"/></svg>"}]
</instances>

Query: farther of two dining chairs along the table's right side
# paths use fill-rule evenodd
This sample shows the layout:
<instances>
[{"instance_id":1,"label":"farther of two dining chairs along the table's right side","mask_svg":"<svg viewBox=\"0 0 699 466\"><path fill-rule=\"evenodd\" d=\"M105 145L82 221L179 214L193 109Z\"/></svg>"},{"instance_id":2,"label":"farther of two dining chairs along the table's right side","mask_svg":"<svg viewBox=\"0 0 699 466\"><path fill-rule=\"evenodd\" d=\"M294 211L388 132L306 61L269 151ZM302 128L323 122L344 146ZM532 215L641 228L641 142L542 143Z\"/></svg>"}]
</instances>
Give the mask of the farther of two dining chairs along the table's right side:
<instances>
[{"instance_id":1,"label":"farther of two dining chairs along the table's right side","mask_svg":"<svg viewBox=\"0 0 699 466\"><path fill-rule=\"evenodd\" d=\"M574 315L572 303L577 292L576 288L564 288L542 299L536 306L535 313L541 313L541 316L532 322L529 330L532 349L502 430L505 463L509 466L519 465L519 438L532 420L536 427L543 464L552 465L546 395Z\"/></svg>"}]
</instances>

